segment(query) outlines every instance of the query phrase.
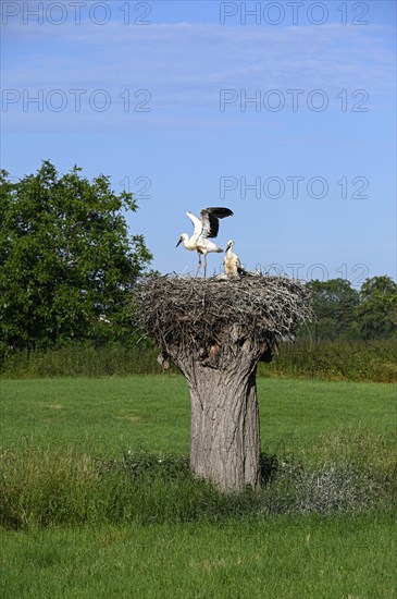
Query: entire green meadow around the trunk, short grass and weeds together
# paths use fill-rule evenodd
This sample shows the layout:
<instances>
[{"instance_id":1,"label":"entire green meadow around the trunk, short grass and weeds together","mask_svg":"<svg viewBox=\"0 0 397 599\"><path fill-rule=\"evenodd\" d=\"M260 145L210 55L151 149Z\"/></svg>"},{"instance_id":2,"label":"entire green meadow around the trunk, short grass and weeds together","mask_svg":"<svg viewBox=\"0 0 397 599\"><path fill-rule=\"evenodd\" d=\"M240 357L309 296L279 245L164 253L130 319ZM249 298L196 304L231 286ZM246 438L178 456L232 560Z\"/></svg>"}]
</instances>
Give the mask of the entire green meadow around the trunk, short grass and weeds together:
<instances>
[{"instance_id":1,"label":"entire green meadow around the trunk, short grass and weeds together","mask_svg":"<svg viewBox=\"0 0 397 599\"><path fill-rule=\"evenodd\" d=\"M1 596L394 598L394 386L258 396L263 488L225 498L182 377L1 380Z\"/></svg>"}]
</instances>

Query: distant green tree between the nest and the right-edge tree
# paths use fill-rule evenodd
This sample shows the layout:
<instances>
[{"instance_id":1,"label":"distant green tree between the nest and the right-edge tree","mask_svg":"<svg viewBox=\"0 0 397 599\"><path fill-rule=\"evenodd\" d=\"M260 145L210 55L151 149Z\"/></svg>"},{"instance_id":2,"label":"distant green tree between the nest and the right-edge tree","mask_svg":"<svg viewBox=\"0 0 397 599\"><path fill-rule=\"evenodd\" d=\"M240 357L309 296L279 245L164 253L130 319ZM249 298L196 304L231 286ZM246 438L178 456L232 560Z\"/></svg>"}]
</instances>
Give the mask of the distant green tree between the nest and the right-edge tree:
<instances>
[{"instance_id":1,"label":"distant green tree between the nest and the right-edge tree","mask_svg":"<svg viewBox=\"0 0 397 599\"><path fill-rule=\"evenodd\" d=\"M345 279L309 281L313 310L317 320L313 325L317 339L336 340L357 338L356 308L358 292Z\"/></svg>"}]
</instances>

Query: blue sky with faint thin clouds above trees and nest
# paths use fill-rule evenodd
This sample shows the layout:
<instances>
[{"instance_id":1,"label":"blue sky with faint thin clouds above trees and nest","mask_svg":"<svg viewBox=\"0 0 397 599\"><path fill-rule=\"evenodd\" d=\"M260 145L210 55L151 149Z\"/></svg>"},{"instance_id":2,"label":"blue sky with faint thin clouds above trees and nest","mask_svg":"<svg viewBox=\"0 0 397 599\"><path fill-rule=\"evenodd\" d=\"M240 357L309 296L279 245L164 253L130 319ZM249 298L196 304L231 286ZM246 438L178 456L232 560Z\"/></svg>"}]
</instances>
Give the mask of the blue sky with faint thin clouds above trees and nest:
<instances>
[{"instance_id":1,"label":"blue sky with faint thin clouds above trees and nest","mask_svg":"<svg viewBox=\"0 0 397 599\"><path fill-rule=\"evenodd\" d=\"M395 278L394 1L1 8L11 175L110 175L162 272L195 272L185 211L223 205L219 244L249 269Z\"/></svg>"}]
</instances>

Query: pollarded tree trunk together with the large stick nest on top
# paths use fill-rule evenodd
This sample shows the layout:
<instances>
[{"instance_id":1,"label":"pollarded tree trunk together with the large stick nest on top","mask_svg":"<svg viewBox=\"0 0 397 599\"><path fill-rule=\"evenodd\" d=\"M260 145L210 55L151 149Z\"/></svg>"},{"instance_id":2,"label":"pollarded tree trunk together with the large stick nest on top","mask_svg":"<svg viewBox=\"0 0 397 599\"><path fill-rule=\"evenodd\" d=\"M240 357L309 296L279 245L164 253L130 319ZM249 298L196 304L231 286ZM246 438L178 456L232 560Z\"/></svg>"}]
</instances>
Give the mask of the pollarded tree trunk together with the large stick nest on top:
<instances>
[{"instance_id":1,"label":"pollarded tree trunk together with the large stick nest on top","mask_svg":"<svg viewBox=\"0 0 397 599\"><path fill-rule=\"evenodd\" d=\"M259 485L257 363L310 317L308 293L282 277L164 276L148 278L136 296L160 364L171 356L190 389L191 468L224 491Z\"/></svg>"}]
</instances>

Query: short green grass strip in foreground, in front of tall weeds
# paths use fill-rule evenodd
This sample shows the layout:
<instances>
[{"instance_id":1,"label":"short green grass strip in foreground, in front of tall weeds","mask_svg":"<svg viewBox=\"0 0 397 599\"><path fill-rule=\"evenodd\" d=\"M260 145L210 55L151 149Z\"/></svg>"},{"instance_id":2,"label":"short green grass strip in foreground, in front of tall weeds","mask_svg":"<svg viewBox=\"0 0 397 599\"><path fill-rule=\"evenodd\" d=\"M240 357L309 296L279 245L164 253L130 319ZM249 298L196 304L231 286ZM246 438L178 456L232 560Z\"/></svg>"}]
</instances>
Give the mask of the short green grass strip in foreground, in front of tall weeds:
<instances>
[{"instance_id":1,"label":"short green grass strip in foreground, in front of tall weeds","mask_svg":"<svg viewBox=\"0 0 397 599\"><path fill-rule=\"evenodd\" d=\"M3 598L394 599L390 517L8 533Z\"/></svg>"}]
</instances>

